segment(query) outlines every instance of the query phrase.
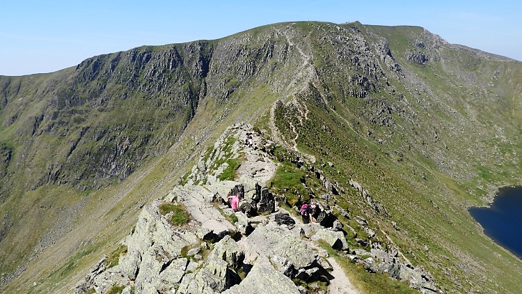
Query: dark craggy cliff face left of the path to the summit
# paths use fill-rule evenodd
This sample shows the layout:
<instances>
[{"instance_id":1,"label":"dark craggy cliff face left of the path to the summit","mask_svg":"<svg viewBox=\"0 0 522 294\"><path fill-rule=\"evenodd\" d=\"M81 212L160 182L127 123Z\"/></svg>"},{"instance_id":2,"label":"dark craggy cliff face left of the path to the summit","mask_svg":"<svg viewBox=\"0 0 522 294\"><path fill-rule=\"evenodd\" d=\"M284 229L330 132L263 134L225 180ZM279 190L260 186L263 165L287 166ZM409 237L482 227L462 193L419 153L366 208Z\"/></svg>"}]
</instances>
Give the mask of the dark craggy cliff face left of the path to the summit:
<instances>
[{"instance_id":1,"label":"dark craggy cliff face left of the path to the summit","mask_svg":"<svg viewBox=\"0 0 522 294\"><path fill-rule=\"evenodd\" d=\"M144 160L165 153L200 101L219 108L235 91L258 87L278 70L291 76L299 56L277 34L266 29L140 47L95 56L52 76L3 77L3 125L15 129L4 133L22 146L15 155L24 158L18 168L30 168L21 174L24 187L90 189L124 180Z\"/></svg>"}]
</instances>

